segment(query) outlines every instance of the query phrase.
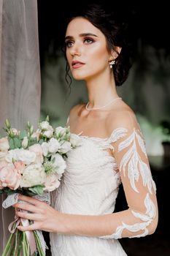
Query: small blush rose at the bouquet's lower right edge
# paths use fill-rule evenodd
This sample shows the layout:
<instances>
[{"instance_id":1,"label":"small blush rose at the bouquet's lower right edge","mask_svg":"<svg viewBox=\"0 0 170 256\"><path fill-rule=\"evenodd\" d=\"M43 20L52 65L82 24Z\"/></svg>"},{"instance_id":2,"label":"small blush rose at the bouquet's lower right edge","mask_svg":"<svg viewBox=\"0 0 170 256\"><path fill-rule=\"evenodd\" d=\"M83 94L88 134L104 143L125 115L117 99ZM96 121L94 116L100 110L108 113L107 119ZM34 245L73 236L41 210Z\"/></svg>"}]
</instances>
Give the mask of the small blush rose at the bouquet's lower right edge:
<instances>
[{"instance_id":1,"label":"small blush rose at the bouquet's lower right edge","mask_svg":"<svg viewBox=\"0 0 170 256\"><path fill-rule=\"evenodd\" d=\"M60 185L60 181L58 181L58 174L47 175L45 178L45 191L53 191L57 189Z\"/></svg>"}]
</instances>

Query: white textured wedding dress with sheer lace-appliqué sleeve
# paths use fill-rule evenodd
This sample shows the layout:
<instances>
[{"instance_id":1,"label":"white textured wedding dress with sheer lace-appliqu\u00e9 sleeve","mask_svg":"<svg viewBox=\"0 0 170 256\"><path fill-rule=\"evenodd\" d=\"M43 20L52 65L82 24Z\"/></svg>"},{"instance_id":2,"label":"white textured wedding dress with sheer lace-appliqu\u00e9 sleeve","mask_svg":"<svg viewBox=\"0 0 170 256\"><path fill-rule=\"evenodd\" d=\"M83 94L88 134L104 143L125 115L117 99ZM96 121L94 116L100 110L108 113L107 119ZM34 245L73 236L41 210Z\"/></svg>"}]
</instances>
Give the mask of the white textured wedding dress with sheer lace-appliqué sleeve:
<instances>
[{"instance_id":1,"label":"white textured wedding dress with sheer lace-appliqu\u00e9 sleeve","mask_svg":"<svg viewBox=\"0 0 170 256\"><path fill-rule=\"evenodd\" d=\"M146 236L156 216L152 199L155 184L139 125L135 119L130 122L128 119L127 124L115 127L109 138L80 135L80 140L82 145L70 151L66 159L55 208L66 214L112 214L120 182L129 208L115 214L106 230L107 236L50 233L52 255L124 256L126 253L117 239ZM107 148L112 148L117 157L112 157Z\"/></svg>"}]
</instances>

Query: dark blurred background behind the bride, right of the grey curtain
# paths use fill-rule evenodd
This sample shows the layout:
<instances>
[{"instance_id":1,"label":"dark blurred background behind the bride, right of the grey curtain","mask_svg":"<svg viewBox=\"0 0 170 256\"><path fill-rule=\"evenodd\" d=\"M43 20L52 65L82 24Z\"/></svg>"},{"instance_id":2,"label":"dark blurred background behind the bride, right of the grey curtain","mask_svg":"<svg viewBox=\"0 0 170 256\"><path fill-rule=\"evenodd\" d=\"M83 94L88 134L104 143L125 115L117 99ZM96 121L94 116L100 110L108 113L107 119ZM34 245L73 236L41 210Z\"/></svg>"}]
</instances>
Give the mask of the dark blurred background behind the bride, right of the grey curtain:
<instances>
[{"instance_id":1,"label":"dark blurred background behind the bride, right of the grey curtain","mask_svg":"<svg viewBox=\"0 0 170 256\"><path fill-rule=\"evenodd\" d=\"M168 3L149 1L104 1L130 25L134 65L119 94L134 109L146 140L152 176L157 186L159 222L156 232L144 238L120 239L128 256L169 256L169 176L170 176L170 39ZM42 75L42 117L64 125L69 110L88 101L85 84L65 80L65 60L61 51L64 23L76 3L38 1L39 51ZM116 211L125 209L123 188ZM46 234L47 236L47 234ZM47 236L47 242L48 236ZM49 254L50 255L50 254Z\"/></svg>"}]
</instances>

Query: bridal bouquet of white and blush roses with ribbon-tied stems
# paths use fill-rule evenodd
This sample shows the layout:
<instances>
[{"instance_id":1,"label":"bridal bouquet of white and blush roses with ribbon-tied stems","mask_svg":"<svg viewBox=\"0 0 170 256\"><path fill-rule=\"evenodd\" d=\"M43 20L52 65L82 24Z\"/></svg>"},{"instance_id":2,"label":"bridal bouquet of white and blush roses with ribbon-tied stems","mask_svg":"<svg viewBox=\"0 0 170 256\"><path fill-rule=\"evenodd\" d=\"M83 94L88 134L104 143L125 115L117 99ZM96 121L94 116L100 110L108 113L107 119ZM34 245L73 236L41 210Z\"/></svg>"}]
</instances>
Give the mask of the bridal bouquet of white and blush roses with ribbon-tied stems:
<instances>
[{"instance_id":1,"label":"bridal bouquet of white and blush roses with ribbon-tied stems","mask_svg":"<svg viewBox=\"0 0 170 256\"><path fill-rule=\"evenodd\" d=\"M50 193L60 185L66 169L67 153L79 146L79 137L69 127L50 125L49 118L39 128L28 122L26 129L4 128L7 136L0 138L0 193L6 193L3 207L18 202L18 195L28 195L50 203ZM21 210L22 211L22 210ZM45 241L40 230L22 232L18 225L31 221L18 218L9 225L11 235L2 256L45 255Z\"/></svg>"}]
</instances>

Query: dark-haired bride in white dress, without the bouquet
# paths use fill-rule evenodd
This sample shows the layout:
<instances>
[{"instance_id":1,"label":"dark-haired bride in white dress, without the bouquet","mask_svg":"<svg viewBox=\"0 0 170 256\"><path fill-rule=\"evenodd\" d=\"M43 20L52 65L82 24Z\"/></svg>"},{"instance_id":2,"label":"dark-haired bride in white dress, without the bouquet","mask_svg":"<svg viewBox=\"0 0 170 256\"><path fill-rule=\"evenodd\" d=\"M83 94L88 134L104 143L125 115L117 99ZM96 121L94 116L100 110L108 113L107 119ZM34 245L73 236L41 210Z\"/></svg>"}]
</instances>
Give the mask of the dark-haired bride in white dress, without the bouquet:
<instances>
[{"instance_id":1,"label":"dark-haired bride in white dress, without the bouquet","mask_svg":"<svg viewBox=\"0 0 170 256\"><path fill-rule=\"evenodd\" d=\"M88 89L88 103L74 106L67 122L81 146L69 152L53 207L20 195L27 203L15 207L31 213L17 215L34 224L18 228L50 232L54 256L123 256L119 238L150 235L158 224L144 138L116 90L131 67L125 31L93 4L69 20L65 45L73 78ZM120 183L128 209L114 213Z\"/></svg>"}]
</instances>

